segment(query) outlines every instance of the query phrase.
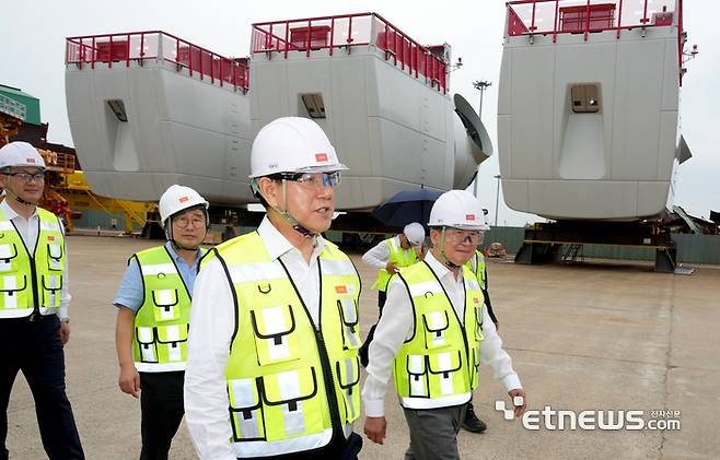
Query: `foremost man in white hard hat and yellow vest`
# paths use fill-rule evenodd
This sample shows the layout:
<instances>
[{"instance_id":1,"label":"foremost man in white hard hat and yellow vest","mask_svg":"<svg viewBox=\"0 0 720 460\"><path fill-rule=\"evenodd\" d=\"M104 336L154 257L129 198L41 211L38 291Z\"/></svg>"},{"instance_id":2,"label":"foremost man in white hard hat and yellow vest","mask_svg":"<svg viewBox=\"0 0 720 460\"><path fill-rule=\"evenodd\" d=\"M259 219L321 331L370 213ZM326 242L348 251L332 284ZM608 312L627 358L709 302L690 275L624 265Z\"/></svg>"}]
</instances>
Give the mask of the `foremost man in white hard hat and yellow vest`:
<instances>
[{"instance_id":1,"label":"foremost man in white hard hat and yellow vest","mask_svg":"<svg viewBox=\"0 0 720 460\"><path fill-rule=\"evenodd\" d=\"M193 299L185 411L200 458L357 458L360 278L321 236L342 169L310 119L253 142L267 214L204 260Z\"/></svg>"}]
</instances>

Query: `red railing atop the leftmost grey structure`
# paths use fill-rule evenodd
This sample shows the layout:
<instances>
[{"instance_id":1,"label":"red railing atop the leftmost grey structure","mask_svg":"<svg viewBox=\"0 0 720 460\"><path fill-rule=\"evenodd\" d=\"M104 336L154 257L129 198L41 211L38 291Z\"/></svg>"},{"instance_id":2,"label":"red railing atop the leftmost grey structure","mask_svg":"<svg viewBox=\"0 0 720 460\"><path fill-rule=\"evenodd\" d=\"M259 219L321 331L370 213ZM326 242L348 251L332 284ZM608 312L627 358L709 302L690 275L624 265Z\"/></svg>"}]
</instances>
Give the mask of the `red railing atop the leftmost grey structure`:
<instances>
[{"instance_id":1,"label":"red railing atop the leftmost grey structure","mask_svg":"<svg viewBox=\"0 0 720 460\"><path fill-rule=\"evenodd\" d=\"M190 76L198 74L200 80L210 79L220 86L231 84L236 90L248 89L246 59L222 57L166 32L91 35L66 40L66 64L89 64L94 69L96 63L130 67L130 62L142 66L150 60L172 62L178 71L187 69Z\"/></svg>"}]
</instances>

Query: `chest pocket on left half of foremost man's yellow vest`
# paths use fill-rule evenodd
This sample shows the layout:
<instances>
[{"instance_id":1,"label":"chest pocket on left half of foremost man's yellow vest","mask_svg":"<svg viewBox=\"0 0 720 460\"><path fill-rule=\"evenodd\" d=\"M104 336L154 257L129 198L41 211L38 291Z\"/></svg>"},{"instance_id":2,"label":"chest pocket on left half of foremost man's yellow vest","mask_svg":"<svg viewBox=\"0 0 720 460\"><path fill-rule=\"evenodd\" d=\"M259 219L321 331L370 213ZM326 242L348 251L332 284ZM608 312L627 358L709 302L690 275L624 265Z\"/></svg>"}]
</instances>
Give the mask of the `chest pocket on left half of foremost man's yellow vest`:
<instances>
[{"instance_id":1,"label":"chest pocket on left half of foremost man's yellow vest","mask_svg":"<svg viewBox=\"0 0 720 460\"><path fill-rule=\"evenodd\" d=\"M295 317L290 305L251 310L257 359L262 366L300 357Z\"/></svg>"}]
</instances>

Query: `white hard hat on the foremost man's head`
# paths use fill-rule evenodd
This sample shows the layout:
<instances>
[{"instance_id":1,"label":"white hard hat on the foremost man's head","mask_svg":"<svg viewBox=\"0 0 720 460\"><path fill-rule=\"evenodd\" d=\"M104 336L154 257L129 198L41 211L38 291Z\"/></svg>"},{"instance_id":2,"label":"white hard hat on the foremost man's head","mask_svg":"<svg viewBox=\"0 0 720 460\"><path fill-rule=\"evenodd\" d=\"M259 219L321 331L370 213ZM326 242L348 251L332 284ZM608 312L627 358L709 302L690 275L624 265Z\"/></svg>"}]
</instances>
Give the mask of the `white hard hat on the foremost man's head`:
<instances>
[{"instance_id":1,"label":"white hard hat on the foremost man's head","mask_svg":"<svg viewBox=\"0 0 720 460\"><path fill-rule=\"evenodd\" d=\"M347 169L313 120L283 117L269 122L255 137L251 178L277 173L329 173Z\"/></svg>"}]
</instances>

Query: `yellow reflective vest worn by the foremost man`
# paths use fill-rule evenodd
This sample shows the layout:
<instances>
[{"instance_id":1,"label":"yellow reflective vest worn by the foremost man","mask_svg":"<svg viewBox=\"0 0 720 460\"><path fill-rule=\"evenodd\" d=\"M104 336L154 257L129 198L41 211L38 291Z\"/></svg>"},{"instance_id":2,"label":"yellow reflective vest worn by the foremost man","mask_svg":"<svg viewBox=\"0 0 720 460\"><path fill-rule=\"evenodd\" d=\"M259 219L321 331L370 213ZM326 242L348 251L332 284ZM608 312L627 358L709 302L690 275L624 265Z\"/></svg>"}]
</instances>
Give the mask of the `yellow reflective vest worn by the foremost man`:
<instances>
[{"instance_id":1,"label":"yellow reflective vest worn by the foremost man","mask_svg":"<svg viewBox=\"0 0 720 460\"><path fill-rule=\"evenodd\" d=\"M283 264L270 259L256 232L218 246L214 257L237 309L225 368L234 453L276 456L327 445L360 414L360 279L352 262L325 241L316 331Z\"/></svg>"}]
</instances>

